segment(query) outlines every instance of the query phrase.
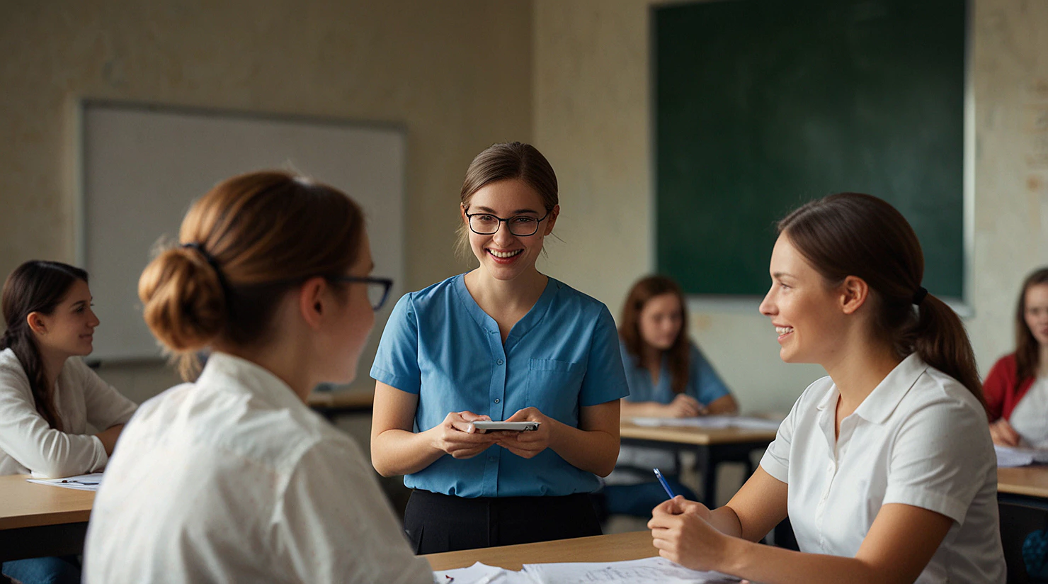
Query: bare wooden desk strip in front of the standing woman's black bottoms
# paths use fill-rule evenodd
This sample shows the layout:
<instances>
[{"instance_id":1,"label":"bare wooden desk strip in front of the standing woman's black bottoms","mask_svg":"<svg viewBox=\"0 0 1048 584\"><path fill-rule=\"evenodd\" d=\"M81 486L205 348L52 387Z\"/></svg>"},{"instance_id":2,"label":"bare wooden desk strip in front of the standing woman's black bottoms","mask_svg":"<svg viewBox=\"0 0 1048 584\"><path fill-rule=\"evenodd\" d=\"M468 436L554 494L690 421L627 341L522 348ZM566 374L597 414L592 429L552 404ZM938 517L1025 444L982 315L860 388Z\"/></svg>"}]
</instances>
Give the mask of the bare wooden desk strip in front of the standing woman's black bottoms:
<instances>
[{"instance_id":1,"label":"bare wooden desk strip in front of the standing woman's black bottoms","mask_svg":"<svg viewBox=\"0 0 1048 584\"><path fill-rule=\"evenodd\" d=\"M506 569L521 569L523 564L550 562L618 562L658 556L651 532L631 532L610 536L562 539L521 545L481 549L462 549L422 556L435 570L463 568L474 562Z\"/></svg>"}]
</instances>

